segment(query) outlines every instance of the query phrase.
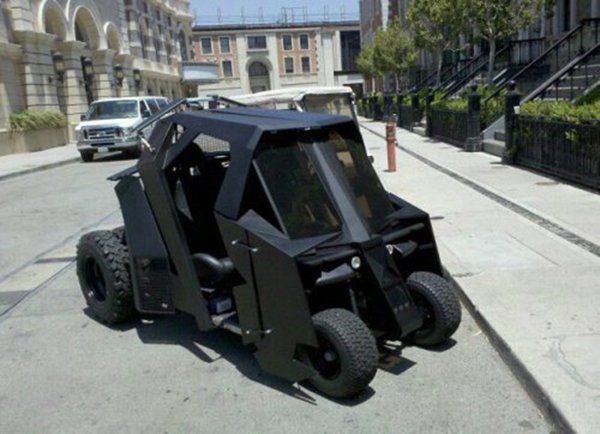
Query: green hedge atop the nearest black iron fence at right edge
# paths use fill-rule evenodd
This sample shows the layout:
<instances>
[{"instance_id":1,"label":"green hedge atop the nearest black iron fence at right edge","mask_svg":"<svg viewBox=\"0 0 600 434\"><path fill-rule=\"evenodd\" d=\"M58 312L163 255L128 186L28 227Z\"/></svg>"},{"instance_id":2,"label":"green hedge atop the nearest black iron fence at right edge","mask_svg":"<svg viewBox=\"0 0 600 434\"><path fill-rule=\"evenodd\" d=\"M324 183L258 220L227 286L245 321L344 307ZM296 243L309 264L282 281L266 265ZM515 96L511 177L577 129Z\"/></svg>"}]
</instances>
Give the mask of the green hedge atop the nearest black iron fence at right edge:
<instances>
[{"instance_id":1,"label":"green hedge atop the nearest black iron fence at right edge","mask_svg":"<svg viewBox=\"0 0 600 434\"><path fill-rule=\"evenodd\" d=\"M573 105L569 101L530 101L521 106L519 113L575 124L597 123L600 119L600 100L585 105Z\"/></svg>"}]
</instances>

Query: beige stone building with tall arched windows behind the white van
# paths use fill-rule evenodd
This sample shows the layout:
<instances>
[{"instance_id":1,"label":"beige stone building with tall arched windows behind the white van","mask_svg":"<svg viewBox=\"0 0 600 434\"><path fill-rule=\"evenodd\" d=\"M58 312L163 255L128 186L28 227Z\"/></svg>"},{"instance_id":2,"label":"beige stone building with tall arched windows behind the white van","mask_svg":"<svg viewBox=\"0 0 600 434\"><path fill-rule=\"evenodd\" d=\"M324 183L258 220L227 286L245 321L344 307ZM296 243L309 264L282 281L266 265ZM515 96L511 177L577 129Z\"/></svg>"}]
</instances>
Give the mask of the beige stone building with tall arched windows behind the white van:
<instances>
[{"instance_id":1,"label":"beige stone building with tall arched windows behind the white van","mask_svg":"<svg viewBox=\"0 0 600 434\"><path fill-rule=\"evenodd\" d=\"M71 126L102 97L181 95L189 0L1 0L0 131L24 109Z\"/></svg>"}]
</instances>

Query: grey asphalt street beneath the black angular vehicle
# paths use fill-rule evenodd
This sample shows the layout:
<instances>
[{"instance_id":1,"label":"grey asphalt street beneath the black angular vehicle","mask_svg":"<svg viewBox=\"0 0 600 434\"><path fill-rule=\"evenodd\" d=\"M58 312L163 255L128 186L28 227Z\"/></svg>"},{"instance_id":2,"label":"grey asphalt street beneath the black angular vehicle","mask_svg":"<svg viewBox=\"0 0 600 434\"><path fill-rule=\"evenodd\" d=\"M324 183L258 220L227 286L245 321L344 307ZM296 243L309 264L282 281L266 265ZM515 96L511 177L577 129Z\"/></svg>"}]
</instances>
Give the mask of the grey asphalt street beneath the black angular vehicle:
<instances>
[{"instance_id":1,"label":"grey asphalt street beneath the black angular vehicle","mask_svg":"<svg viewBox=\"0 0 600 434\"><path fill-rule=\"evenodd\" d=\"M200 333L184 315L98 323L74 248L83 231L119 223L105 178L131 163L0 182L0 432L552 430L466 311L445 348L391 344L352 401L261 372L237 336Z\"/></svg>"}]
</instances>

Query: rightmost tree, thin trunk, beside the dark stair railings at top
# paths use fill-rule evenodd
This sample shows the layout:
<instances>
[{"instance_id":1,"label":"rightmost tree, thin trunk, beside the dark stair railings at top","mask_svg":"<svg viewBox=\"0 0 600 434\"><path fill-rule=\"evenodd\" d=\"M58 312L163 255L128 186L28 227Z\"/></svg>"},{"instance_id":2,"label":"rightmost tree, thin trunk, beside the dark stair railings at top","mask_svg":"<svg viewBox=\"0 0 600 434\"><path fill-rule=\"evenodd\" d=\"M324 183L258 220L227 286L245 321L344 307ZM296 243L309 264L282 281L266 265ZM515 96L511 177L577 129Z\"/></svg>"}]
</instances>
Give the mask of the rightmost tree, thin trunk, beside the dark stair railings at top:
<instances>
[{"instance_id":1,"label":"rightmost tree, thin trunk, beside the dark stair railings at top","mask_svg":"<svg viewBox=\"0 0 600 434\"><path fill-rule=\"evenodd\" d=\"M530 25L539 16L544 5L551 0L464 0L467 17L490 47L488 60L488 83L494 76L498 40L510 38L517 29Z\"/></svg>"}]
</instances>

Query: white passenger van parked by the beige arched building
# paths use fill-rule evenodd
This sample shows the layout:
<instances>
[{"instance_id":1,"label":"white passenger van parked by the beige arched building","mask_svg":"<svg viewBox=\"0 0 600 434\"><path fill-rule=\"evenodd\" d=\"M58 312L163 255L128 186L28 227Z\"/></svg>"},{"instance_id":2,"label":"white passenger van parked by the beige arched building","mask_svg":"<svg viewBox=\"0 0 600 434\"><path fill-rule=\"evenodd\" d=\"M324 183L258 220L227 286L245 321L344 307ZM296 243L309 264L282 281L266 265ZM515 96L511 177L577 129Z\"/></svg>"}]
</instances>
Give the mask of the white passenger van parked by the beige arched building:
<instances>
[{"instance_id":1,"label":"white passenger van parked by the beige arched building","mask_svg":"<svg viewBox=\"0 0 600 434\"><path fill-rule=\"evenodd\" d=\"M142 119L159 112L169 101L160 96L107 98L94 101L81 123L75 127L77 150L83 161L91 161L94 154L124 151L138 157L140 137L133 127ZM144 133L149 135L151 126Z\"/></svg>"}]
</instances>

